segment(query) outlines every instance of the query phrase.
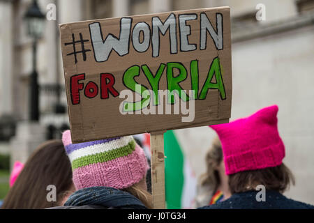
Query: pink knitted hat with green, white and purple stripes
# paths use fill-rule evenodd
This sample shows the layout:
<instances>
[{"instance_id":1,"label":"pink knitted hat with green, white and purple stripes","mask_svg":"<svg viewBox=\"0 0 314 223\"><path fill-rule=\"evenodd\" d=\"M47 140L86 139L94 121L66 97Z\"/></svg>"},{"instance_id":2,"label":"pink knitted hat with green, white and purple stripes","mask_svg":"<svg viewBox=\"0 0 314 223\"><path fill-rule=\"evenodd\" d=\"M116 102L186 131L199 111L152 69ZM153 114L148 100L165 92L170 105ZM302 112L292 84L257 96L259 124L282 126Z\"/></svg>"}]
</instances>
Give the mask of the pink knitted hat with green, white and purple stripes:
<instances>
[{"instance_id":1,"label":"pink knitted hat with green, white and purple stripes","mask_svg":"<svg viewBox=\"0 0 314 223\"><path fill-rule=\"evenodd\" d=\"M70 130L66 130L62 141L77 190L96 186L130 187L140 182L149 169L144 151L132 136L72 144Z\"/></svg>"}]
</instances>

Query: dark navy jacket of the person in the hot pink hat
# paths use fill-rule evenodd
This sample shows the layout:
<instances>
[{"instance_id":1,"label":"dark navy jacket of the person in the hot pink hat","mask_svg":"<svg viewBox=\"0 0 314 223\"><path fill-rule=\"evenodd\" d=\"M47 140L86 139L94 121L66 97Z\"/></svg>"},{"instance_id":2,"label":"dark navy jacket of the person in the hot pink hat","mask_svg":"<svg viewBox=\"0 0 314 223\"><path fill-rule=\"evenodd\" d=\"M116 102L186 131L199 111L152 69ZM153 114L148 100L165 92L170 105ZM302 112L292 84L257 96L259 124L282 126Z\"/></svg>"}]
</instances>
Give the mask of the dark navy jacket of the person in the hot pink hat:
<instances>
[{"instance_id":1,"label":"dark navy jacket of the person in the hot pink hat","mask_svg":"<svg viewBox=\"0 0 314 223\"><path fill-rule=\"evenodd\" d=\"M222 202L200 209L314 209L307 203L294 201L283 196L283 194L266 190L266 201L257 201L256 195L259 191L241 192Z\"/></svg>"}]
</instances>

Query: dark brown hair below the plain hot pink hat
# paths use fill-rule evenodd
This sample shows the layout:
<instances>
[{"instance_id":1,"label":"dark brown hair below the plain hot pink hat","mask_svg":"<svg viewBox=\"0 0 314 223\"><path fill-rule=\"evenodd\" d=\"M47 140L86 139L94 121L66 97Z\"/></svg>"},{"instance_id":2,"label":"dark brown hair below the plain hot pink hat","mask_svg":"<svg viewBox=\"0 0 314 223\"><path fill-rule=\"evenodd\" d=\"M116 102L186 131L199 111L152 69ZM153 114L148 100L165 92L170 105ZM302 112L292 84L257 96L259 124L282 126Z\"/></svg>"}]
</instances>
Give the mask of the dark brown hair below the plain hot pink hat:
<instances>
[{"instance_id":1,"label":"dark brown hair below the plain hot pink hat","mask_svg":"<svg viewBox=\"0 0 314 223\"><path fill-rule=\"evenodd\" d=\"M229 175L229 187L232 194L255 190L257 185L264 185L267 190L282 193L290 187L291 183L292 185L295 183L294 176L285 164Z\"/></svg>"}]
</instances>

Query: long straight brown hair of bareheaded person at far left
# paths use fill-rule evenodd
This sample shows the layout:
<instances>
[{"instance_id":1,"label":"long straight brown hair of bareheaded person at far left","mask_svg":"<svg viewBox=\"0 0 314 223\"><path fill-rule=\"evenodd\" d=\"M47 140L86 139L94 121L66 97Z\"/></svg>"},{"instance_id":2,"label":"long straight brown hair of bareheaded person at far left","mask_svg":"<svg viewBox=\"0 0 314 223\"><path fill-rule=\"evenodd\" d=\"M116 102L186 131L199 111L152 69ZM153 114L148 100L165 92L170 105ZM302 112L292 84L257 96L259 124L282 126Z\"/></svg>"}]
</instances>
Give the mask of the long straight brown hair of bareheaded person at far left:
<instances>
[{"instance_id":1,"label":"long straight brown hair of bareheaded person at far left","mask_svg":"<svg viewBox=\"0 0 314 223\"><path fill-rule=\"evenodd\" d=\"M47 185L55 185L57 201L47 201ZM3 201L3 209L50 208L59 206L72 187L72 170L61 140L38 146L29 157Z\"/></svg>"}]
</instances>

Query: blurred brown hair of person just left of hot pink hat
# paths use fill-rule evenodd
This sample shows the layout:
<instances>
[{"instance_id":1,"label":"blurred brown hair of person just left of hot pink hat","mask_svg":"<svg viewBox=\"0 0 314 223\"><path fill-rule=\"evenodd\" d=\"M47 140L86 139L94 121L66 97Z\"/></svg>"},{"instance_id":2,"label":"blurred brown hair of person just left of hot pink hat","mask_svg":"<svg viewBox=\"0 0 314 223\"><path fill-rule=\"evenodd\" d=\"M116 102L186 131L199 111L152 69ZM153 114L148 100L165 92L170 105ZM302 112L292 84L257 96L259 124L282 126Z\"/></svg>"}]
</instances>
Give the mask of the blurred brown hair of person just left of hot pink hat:
<instances>
[{"instance_id":1,"label":"blurred brown hair of person just left of hot pink hat","mask_svg":"<svg viewBox=\"0 0 314 223\"><path fill-rule=\"evenodd\" d=\"M209 185L213 187L216 192L218 185L220 184L220 178L217 171L217 167L220 162L223 161L223 150L218 137L214 138L213 144L206 155L207 171L201 176L201 185Z\"/></svg>"}]
</instances>

